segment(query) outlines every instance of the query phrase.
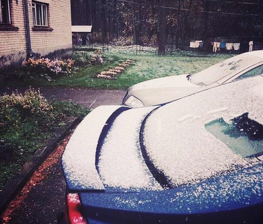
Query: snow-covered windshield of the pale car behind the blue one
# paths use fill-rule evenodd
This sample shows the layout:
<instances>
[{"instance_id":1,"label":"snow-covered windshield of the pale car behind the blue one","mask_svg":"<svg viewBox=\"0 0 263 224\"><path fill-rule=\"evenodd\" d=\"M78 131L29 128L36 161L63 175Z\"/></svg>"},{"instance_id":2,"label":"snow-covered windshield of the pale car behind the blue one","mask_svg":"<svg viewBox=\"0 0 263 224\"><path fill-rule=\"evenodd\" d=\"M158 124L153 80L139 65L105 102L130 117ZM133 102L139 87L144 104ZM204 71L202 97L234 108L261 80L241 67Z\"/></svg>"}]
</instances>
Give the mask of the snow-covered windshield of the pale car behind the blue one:
<instances>
[{"instance_id":1,"label":"snow-covered windshield of the pale car behind the blue one","mask_svg":"<svg viewBox=\"0 0 263 224\"><path fill-rule=\"evenodd\" d=\"M189 77L189 81L200 86L210 85L227 75L232 77L260 61L260 58L252 55L237 55L192 75Z\"/></svg>"}]
</instances>

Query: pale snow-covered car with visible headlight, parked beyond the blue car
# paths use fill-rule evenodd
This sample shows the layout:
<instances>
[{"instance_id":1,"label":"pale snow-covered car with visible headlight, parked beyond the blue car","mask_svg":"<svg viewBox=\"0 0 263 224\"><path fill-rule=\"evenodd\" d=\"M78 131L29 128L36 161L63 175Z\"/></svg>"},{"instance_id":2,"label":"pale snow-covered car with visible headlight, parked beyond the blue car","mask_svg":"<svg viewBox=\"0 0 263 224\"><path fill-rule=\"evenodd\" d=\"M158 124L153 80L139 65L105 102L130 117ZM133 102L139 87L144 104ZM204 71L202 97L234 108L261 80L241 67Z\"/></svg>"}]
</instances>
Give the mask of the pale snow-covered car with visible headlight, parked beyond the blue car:
<instances>
[{"instance_id":1,"label":"pale snow-covered car with visible headlight, parked beyond the blue car","mask_svg":"<svg viewBox=\"0 0 263 224\"><path fill-rule=\"evenodd\" d=\"M263 50L246 52L201 72L173 75L131 86L122 105L131 107L167 103L211 87L263 73Z\"/></svg>"}]
</instances>

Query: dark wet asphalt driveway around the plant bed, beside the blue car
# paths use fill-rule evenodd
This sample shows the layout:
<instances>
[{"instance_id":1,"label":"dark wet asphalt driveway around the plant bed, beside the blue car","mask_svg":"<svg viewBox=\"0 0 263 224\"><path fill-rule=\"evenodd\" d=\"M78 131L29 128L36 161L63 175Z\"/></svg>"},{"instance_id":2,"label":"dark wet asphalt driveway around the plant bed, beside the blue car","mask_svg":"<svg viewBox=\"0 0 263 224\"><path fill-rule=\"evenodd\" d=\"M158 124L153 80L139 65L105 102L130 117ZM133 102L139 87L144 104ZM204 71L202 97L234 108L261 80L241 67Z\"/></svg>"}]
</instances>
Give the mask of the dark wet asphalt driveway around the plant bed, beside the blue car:
<instances>
[{"instance_id":1,"label":"dark wet asphalt driveway around the plant bed, beside the blue car","mask_svg":"<svg viewBox=\"0 0 263 224\"><path fill-rule=\"evenodd\" d=\"M10 94L16 89L18 92L24 93L27 88L3 87L0 89L0 94ZM73 101L90 108L108 104L118 105L125 94L124 90L64 88L40 88L39 90L48 100L54 98L55 100ZM60 155L59 159L46 168L43 180L31 184L30 190L26 191L26 198L23 199L19 208L11 213L8 223L57 223L57 213L64 210L65 200L65 181L60 165L62 151L57 153Z\"/></svg>"}]
</instances>

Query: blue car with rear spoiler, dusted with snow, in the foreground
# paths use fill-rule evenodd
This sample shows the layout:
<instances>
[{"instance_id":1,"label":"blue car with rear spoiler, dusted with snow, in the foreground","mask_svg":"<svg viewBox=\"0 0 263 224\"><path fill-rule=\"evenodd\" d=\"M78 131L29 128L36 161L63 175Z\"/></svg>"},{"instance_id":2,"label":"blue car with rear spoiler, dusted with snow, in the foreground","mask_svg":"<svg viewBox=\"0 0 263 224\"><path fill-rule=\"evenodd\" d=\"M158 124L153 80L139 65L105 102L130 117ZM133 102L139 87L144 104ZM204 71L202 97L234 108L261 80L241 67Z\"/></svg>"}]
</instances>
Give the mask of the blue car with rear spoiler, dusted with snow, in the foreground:
<instances>
[{"instance_id":1,"label":"blue car with rear spoiler, dusted with snow, in the foreground","mask_svg":"<svg viewBox=\"0 0 263 224\"><path fill-rule=\"evenodd\" d=\"M67 223L261 223L263 77L99 106L62 156Z\"/></svg>"}]
</instances>

